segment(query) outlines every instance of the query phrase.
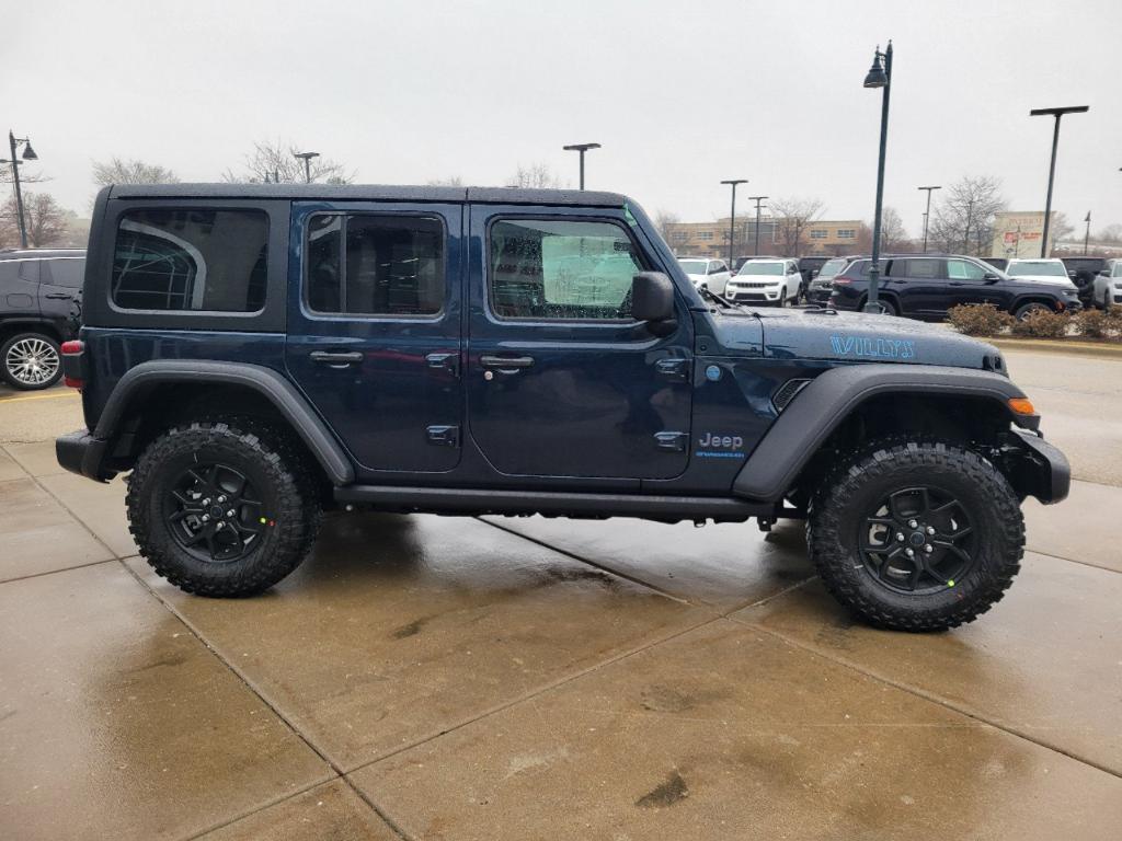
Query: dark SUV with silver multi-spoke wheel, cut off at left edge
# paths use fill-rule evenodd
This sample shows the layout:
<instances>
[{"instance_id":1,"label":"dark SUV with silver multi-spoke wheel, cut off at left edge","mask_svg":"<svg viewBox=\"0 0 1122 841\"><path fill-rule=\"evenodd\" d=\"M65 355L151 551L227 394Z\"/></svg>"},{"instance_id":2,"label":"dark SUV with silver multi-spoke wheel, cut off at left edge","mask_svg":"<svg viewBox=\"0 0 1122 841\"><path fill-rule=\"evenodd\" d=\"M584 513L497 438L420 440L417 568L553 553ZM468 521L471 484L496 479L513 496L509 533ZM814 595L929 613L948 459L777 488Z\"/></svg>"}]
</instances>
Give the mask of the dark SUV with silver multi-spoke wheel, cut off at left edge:
<instances>
[{"instance_id":1,"label":"dark SUV with silver multi-spoke wheel, cut off at left edge","mask_svg":"<svg viewBox=\"0 0 1122 841\"><path fill-rule=\"evenodd\" d=\"M81 249L0 251L0 378L12 388L48 388L62 377L59 346L82 315Z\"/></svg>"}]
</instances>

